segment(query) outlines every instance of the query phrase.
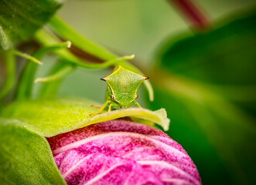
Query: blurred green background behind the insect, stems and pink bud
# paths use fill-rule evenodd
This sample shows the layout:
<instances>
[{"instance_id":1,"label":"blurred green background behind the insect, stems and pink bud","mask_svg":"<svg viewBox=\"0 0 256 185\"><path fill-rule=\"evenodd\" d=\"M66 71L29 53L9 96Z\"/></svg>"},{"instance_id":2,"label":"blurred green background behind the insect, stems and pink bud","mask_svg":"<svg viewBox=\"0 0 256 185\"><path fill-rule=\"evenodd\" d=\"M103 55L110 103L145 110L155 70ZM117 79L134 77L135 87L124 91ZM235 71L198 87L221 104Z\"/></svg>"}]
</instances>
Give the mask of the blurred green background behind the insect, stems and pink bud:
<instances>
[{"instance_id":1,"label":"blurred green background behind the insect, stems and pink bud","mask_svg":"<svg viewBox=\"0 0 256 185\"><path fill-rule=\"evenodd\" d=\"M164 0L70 0L58 15L97 44L119 55L135 54L132 63L155 90L150 103L140 88L138 102L166 108L167 133L189 153L203 184L254 184L256 1L193 2L210 21L206 30L191 29L183 13ZM55 59L45 57L36 76L47 76ZM104 103L100 78L110 72L77 68L58 96Z\"/></svg>"}]
</instances>

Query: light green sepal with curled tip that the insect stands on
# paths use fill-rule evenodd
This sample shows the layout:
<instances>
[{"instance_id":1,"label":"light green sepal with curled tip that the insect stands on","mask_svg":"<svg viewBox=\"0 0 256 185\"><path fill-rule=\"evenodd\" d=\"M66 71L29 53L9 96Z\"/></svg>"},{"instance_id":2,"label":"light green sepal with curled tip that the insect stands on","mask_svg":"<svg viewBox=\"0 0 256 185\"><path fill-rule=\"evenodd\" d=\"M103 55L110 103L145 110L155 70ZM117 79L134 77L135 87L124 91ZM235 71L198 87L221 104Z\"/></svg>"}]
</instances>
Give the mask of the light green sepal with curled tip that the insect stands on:
<instances>
[{"instance_id":1,"label":"light green sepal with curled tip that the insect stands on","mask_svg":"<svg viewBox=\"0 0 256 185\"><path fill-rule=\"evenodd\" d=\"M2 116L21 120L27 129L46 137L125 116L146 119L164 130L169 129L164 109L155 112L140 108L117 109L90 117L90 113L97 112L92 105L97 103L87 99L26 100L13 103L3 110Z\"/></svg>"}]
</instances>

